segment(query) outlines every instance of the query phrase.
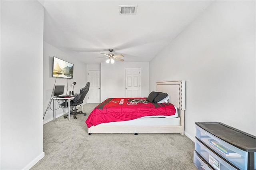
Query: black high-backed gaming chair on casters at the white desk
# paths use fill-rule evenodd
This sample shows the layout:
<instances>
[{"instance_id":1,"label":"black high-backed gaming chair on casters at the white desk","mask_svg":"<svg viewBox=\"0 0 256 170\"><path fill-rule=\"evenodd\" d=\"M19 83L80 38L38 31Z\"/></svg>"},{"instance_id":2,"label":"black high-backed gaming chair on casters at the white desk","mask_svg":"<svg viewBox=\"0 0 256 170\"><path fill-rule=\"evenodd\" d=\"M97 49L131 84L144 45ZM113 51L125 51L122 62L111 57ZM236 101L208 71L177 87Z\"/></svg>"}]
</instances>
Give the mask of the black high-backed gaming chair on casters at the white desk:
<instances>
[{"instance_id":1,"label":"black high-backed gaming chair on casters at the white desk","mask_svg":"<svg viewBox=\"0 0 256 170\"><path fill-rule=\"evenodd\" d=\"M83 113L83 102L86 94L88 93L90 88L90 82L87 82L85 87L80 89L80 93L74 98L74 100L70 101L70 107L74 107L74 112L71 112L70 115L74 115L74 119L76 119L77 114L84 114L86 116L86 113ZM63 107L68 107L66 106L66 102L61 104ZM76 111L76 106L77 105L82 105L82 111L77 112ZM64 118L66 119L68 115L65 115Z\"/></svg>"}]
</instances>

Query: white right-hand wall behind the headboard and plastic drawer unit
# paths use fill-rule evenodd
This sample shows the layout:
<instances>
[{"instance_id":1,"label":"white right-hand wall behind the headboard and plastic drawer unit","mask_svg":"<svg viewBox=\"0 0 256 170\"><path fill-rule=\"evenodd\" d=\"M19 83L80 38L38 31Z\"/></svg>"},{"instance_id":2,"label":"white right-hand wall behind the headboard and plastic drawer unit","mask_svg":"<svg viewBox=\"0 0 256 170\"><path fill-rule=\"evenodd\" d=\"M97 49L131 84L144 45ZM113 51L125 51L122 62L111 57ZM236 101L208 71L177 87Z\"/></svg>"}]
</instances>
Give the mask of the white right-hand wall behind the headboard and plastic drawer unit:
<instances>
[{"instance_id":1,"label":"white right-hand wall behind the headboard and plastic drawer unit","mask_svg":"<svg viewBox=\"0 0 256 170\"><path fill-rule=\"evenodd\" d=\"M217 1L150 61L150 91L186 80L192 138L195 122L215 121L256 135L255 67L255 2Z\"/></svg>"}]
</instances>

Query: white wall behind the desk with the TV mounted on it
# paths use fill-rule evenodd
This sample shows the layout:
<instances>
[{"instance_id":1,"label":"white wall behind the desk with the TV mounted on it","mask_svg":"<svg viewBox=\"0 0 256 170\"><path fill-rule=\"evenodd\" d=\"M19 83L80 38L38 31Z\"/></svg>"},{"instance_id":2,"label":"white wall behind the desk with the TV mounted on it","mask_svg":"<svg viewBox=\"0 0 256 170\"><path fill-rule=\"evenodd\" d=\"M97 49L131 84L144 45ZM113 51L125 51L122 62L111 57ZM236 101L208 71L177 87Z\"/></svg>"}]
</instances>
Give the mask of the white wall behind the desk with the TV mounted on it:
<instances>
[{"instance_id":1,"label":"white wall behind the desk with the TV mounted on it","mask_svg":"<svg viewBox=\"0 0 256 170\"><path fill-rule=\"evenodd\" d=\"M68 61L69 63L74 64L74 78L73 79L65 79L65 78L56 78L52 77L52 67L53 67L53 57L58 57L59 59L63 59ZM61 51L60 49L50 45L47 42L44 42L44 70L43 70L43 84L44 84L44 96L43 96L43 109L44 112L47 109L48 103L52 96L52 91L54 89L54 82L56 80L55 85L65 85L64 93L68 91L72 91L71 83L76 82L74 86L74 93L80 93L80 89L84 87L87 83L87 75L86 75L86 64L77 60L75 57L68 55L67 53ZM67 83L68 82L68 83ZM61 101L60 103L63 103ZM84 99L84 103L86 103L86 99ZM53 102L51 103L51 109L53 109ZM56 102L56 108L59 108L58 103ZM48 123L53 120L53 111L48 109L46 115L44 117L44 123ZM64 111L68 113L68 108L64 108ZM64 111L62 108L56 110L56 118L64 115ZM64 119L64 118L63 118ZM72 119L72 117L71 117Z\"/></svg>"}]
</instances>

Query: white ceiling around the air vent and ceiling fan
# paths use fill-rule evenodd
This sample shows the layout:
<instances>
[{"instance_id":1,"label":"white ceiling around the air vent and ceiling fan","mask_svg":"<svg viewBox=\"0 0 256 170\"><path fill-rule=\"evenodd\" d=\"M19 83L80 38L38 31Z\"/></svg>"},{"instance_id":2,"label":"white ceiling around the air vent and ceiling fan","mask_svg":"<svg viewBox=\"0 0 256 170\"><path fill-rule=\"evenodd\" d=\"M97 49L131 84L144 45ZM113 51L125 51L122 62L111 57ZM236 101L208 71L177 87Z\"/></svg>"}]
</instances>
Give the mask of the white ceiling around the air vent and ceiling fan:
<instances>
[{"instance_id":1,"label":"white ceiling around the air vent and ceiling fan","mask_svg":"<svg viewBox=\"0 0 256 170\"><path fill-rule=\"evenodd\" d=\"M114 49L115 55L123 54L123 62L148 62L212 3L208 0L40 2L45 8L44 41L88 64L104 62L105 58L95 57L104 57L100 53L109 53L109 48ZM137 14L119 15L119 5L138 5Z\"/></svg>"}]
</instances>

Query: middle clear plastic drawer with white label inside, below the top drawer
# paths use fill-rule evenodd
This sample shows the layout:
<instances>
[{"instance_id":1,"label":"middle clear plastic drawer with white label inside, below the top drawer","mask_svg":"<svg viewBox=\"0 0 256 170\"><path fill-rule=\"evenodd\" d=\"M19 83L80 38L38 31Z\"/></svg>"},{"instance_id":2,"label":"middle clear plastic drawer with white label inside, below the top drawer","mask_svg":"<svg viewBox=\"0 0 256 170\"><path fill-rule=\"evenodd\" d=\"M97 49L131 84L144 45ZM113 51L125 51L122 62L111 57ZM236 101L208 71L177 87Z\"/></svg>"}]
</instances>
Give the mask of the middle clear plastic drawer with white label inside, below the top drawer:
<instances>
[{"instance_id":1,"label":"middle clear plastic drawer with white label inside, below the top drawer","mask_svg":"<svg viewBox=\"0 0 256 170\"><path fill-rule=\"evenodd\" d=\"M210 149L208 149L204 144L202 144L197 139L195 140L196 152L204 158L212 167L216 170L237 170L238 168L233 167L228 164L228 162L222 160L219 156L214 154Z\"/></svg>"}]
</instances>

